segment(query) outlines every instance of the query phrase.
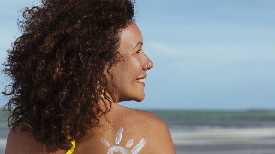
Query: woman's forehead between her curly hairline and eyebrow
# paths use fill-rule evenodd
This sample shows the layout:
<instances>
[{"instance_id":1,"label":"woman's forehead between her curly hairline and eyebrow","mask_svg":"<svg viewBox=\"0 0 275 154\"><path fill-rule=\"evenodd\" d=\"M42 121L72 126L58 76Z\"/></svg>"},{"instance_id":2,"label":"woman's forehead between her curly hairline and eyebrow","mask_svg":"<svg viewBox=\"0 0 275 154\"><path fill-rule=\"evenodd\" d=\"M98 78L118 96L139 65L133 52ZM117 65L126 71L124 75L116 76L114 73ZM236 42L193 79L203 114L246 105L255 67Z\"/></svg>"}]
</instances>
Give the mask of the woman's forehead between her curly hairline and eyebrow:
<instances>
[{"instance_id":1,"label":"woman's forehead between her curly hairline and eyebrow","mask_svg":"<svg viewBox=\"0 0 275 154\"><path fill-rule=\"evenodd\" d=\"M122 49L128 48L128 50L131 50L139 42L143 42L141 32L138 26L132 22L131 25L121 32L120 46Z\"/></svg>"}]
</instances>

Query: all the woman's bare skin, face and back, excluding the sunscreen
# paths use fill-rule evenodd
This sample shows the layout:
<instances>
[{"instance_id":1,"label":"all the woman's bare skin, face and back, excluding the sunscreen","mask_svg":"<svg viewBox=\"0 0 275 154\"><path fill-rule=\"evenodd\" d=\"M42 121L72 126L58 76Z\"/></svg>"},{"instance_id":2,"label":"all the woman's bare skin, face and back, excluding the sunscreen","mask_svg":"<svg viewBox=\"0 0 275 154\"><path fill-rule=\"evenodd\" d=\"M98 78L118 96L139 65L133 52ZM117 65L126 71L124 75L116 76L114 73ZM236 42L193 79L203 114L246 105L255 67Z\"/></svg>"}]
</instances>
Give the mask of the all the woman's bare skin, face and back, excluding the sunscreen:
<instances>
[{"instance_id":1,"label":"all the woman's bare skin, face and back, excluding the sunscreen","mask_svg":"<svg viewBox=\"0 0 275 154\"><path fill-rule=\"evenodd\" d=\"M141 43L140 43L141 42ZM113 74L113 85L107 87L105 101L108 99L112 103L112 108L105 116L110 121L108 123L104 116L100 116L98 126L90 129L90 135L83 140L76 141L74 153L107 153L110 147L115 146L117 131L123 127L122 139L119 145L128 152L138 144L141 139L146 140L144 147L139 154L174 154L174 144L171 139L167 125L162 119L153 113L127 108L117 104L121 101L135 100L142 101L145 97L144 85L136 82L139 78L146 76L146 71L153 67L153 62L146 56L142 50L142 36L138 26L134 23L121 33L121 45L119 52L125 57L117 65L113 66L110 72ZM137 46L136 46L137 45ZM135 47L135 48L133 48ZM107 75L107 74L106 74ZM107 75L108 78L108 75ZM108 83L110 78L108 78ZM99 101L101 108L104 108L103 100ZM110 146L101 143L101 138L107 139ZM133 139L131 147L125 147L128 140ZM10 131L8 135L6 153L39 153L40 143L28 132ZM66 153L71 147L59 147L57 151L44 151L40 153ZM119 153L119 152L117 152Z\"/></svg>"}]
</instances>

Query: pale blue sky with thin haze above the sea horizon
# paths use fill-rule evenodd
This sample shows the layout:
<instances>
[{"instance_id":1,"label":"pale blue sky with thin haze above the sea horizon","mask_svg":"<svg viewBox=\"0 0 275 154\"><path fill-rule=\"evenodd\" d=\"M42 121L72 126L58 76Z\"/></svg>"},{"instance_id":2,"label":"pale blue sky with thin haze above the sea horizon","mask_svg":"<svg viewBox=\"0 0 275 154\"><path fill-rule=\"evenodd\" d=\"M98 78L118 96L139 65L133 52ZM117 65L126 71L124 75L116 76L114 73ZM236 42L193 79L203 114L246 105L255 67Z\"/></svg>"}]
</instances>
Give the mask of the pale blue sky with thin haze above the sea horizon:
<instances>
[{"instance_id":1,"label":"pale blue sky with thin haze above the sea horizon","mask_svg":"<svg viewBox=\"0 0 275 154\"><path fill-rule=\"evenodd\" d=\"M0 6L1 62L18 36L17 11L29 4L11 0ZM275 109L275 1L137 0L135 6L143 49L154 67L147 71L145 99L120 105Z\"/></svg>"}]
</instances>

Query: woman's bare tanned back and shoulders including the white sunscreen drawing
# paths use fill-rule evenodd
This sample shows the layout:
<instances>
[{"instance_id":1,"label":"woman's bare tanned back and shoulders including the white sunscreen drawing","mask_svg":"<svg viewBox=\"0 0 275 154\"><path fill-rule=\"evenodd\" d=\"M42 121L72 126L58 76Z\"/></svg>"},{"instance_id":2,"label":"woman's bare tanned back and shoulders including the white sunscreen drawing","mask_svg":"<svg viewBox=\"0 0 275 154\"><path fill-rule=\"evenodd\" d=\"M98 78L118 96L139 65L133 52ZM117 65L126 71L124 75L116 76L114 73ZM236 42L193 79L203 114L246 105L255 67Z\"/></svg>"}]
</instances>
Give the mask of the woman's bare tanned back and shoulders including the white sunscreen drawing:
<instances>
[{"instance_id":1,"label":"woman's bare tanned back and shoulders including the white sunscreen drawing","mask_svg":"<svg viewBox=\"0 0 275 154\"><path fill-rule=\"evenodd\" d=\"M91 129L94 135L76 141L73 153L175 153L166 124L153 113L114 103L106 116L110 123L101 116L100 126ZM10 132L8 136L6 153L38 153L39 146L29 133L16 129L15 134ZM66 153L70 146L59 147L52 153Z\"/></svg>"}]
</instances>

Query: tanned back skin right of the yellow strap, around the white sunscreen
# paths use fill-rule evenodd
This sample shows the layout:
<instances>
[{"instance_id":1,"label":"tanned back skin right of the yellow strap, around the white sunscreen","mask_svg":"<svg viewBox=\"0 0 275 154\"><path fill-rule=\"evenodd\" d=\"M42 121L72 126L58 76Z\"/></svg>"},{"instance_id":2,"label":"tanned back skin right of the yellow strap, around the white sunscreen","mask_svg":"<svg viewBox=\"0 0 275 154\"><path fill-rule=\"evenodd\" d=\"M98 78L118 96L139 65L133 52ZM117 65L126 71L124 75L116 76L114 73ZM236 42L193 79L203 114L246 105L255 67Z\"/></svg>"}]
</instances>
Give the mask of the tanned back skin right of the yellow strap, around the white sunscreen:
<instances>
[{"instance_id":1,"label":"tanned back skin right of the yellow strap, around the white sunscreen","mask_svg":"<svg viewBox=\"0 0 275 154\"><path fill-rule=\"evenodd\" d=\"M100 117L103 126L92 129L95 135L77 143L74 153L107 153L110 147L116 145L116 133L121 127L123 127L123 133L118 146L131 151L144 138L146 144L139 154L175 153L169 130L159 117L150 112L130 109L115 103L112 108L113 110L107 114L110 123L104 120L103 116ZM102 144L101 138L106 138L110 146ZM130 139L134 140L133 145L125 147Z\"/></svg>"}]
</instances>

